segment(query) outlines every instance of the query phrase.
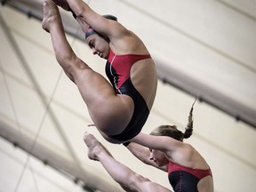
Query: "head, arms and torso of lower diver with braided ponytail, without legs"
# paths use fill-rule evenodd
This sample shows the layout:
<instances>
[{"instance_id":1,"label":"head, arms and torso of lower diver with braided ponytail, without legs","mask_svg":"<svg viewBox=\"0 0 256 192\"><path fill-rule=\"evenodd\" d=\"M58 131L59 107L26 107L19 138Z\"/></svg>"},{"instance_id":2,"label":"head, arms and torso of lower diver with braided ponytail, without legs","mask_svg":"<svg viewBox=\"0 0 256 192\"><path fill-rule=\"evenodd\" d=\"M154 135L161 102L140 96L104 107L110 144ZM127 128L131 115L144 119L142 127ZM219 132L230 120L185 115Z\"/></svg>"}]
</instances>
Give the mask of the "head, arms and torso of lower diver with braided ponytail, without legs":
<instances>
[{"instance_id":1,"label":"head, arms and torso of lower diver with braided ponytail, without legs","mask_svg":"<svg viewBox=\"0 0 256 192\"><path fill-rule=\"evenodd\" d=\"M134 137L131 143L127 143L127 148L143 163L168 172L175 192L213 192L210 166L195 148L183 142L193 132L193 106L184 133L175 125L161 125L150 135L140 133ZM157 191L165 192L166 189Z\"/></svg>"}]
</instances>

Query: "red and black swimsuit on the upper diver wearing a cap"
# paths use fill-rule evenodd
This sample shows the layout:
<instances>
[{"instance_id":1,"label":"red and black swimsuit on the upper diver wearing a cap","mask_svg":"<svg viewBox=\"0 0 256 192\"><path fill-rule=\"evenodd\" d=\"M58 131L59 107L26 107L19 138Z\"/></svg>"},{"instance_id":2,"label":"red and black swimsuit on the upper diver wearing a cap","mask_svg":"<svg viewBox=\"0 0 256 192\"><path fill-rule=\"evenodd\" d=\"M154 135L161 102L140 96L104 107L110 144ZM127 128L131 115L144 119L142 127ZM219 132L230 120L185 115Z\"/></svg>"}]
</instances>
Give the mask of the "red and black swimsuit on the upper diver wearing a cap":
<instances>
[{"instance_id":1,"label":"red and black swimsuit on the upper diver wearing a cap","mask_svg":"<svg viewBox=\"0 0 256 192\"><path fill-rule=\"evenodd\" d=\"M110 50L106 63L106 75L113 85L116 94L129 95L134 102L134 111L130 123L124 132L117 135L109 135L115 140L131 140L140 133L143 125L148 119L149 110L147 103L132 84L130 71L132 65L138 60L151 58L147 55L126 54L116 55Z\"/></svg>"}]
</instances>

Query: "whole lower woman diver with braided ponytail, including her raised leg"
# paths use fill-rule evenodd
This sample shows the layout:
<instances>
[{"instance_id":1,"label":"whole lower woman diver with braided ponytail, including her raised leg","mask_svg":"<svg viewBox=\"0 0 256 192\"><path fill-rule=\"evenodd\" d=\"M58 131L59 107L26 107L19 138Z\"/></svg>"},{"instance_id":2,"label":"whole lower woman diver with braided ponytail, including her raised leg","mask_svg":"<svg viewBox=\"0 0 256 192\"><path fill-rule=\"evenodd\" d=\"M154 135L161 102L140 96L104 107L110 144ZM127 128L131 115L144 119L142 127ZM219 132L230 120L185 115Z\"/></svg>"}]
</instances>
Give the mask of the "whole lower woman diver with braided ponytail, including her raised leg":
<instances>
[{"instance_id":1,"label":"whole lower woman diver with braided ponytail, including her raised leg","mask_svg":"<svg viewBox=\"0 0 256 192\"><path fill-rule=\"evenodd\" d=\"M124 145L144 164L168 172L170 184L175 192L213 192L210 166L195 148L183 142L183 139L189 138L193 132L192 110L193 106L184 133L174 125L162 125L150 135L140 132L131 142L126 142ZM172 191L171 188L148 180L118 162L92 134L85 132L84 142L88 147L89 158L99 161L125 191Z\"/></svg>"}]
</instances>

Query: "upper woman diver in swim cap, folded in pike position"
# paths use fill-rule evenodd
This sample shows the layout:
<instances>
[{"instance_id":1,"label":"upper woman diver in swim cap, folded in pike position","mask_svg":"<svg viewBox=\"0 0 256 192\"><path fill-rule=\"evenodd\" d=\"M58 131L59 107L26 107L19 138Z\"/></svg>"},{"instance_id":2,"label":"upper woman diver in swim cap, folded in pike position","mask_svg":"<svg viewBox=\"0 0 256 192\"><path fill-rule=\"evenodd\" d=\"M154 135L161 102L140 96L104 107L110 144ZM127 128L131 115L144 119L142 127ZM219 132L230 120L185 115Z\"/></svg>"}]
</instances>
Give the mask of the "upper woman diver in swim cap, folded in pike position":
<instances>
[{"instance_id":1,"label":"upper woman diver in swim cap, folded in pike position","mask_svg":"<svg viewBox=\"0 0 256 192\"><path fill-rule=\"evenodd\" d=\"M108 60L106 73L111 84L73 52L56 4L73 13L92 53ZM139 134L157 87L155 63L140 38L115 16L101 16L81 0L44 0L42 27L51 34L56 59L76 84L101 135L123 143Z\"/></svg>"}]
</instances>

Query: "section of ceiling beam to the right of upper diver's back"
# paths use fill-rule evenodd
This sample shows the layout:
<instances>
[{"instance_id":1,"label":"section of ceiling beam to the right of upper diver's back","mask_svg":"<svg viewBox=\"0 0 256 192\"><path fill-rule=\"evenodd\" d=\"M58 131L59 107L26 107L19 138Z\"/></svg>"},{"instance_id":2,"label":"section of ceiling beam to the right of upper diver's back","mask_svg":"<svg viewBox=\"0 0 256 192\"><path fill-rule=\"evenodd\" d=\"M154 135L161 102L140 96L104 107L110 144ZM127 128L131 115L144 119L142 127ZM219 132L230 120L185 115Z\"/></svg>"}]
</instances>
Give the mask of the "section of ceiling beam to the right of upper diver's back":
<instances>
[{"instance_id":1,"label":"section of ceiling beam to the right of upper diver's back","mask_svg":"<svg viewBox=\"0 0 256 192\"><path fill-rule=\"evenodd\" d=\"M211 87L191 78L186 73L166 65L161 60L156 61L157 75L160 80L166 84L187 92L193 97L197 97L199 101L205 102L214 108L234 117L234 121L241 121L245 124L256 128L256 111L247 107L244 103L232 100L223 92L218 92Z\"/></svg>"}]
</instances>

